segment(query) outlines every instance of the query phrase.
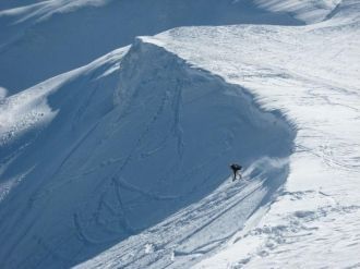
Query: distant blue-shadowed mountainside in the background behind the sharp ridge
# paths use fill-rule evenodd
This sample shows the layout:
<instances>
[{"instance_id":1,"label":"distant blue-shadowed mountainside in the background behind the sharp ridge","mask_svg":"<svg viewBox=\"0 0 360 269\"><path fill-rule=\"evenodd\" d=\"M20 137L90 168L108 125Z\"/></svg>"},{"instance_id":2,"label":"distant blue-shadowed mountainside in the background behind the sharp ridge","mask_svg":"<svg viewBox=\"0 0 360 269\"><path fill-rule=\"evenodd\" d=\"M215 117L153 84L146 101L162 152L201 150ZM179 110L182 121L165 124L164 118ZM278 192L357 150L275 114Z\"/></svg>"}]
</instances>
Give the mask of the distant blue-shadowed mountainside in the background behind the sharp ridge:
<instances>
[{"instance_id":1,"label":"distant blue-shadowed mountainside in the background behind the sharp ridge","mask_svg":"<svg viewBox=\"0 0 360 269\"><path fill-rule=\"evenodd\" d=\"M301 24L286 12L230 0L52 0L0 11L0 86L17 93L127 46L137 35L238 23Z\"/></svg>"}]
</instances>

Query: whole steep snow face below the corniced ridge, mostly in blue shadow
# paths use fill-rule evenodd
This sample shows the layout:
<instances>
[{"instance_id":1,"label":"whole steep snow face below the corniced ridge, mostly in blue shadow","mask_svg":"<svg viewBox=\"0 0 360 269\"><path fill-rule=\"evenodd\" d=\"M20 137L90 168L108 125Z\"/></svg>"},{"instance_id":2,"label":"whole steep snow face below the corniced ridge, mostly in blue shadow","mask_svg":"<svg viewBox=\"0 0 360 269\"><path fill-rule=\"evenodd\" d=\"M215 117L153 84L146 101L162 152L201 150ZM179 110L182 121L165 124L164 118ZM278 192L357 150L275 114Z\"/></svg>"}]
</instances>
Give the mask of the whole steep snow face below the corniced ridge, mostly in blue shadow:
<instances>
[{"instance_id":1,"label":"whole steep snow face below the corniced ridge, mostly in blue shadow","mask_svg":"<svg viewBox=\"0 0 360 269\"><path fill-rule=\"evenodd\" d=\"M120 71L115 65L119 53L2 105L7 111L32 99L23 102L25 108L41 103L38 109L46 108L43 113L50 117L43 121L41 126L48 124L43 131L32 124L36 135L31 127L21 130L22 148L2 146L2 266L69 267L121 241L120 247L139 253L151 253L148 244L159 249L171 242L159 265L168 262L171 252L184 256L177 262L195 260L194 249L215 239L206 249L221 245L284 184L293 131L278 111L260 110L245 89L156 45L137 39ZM233 160L249 166L249 185L221 185ZM196 220L189 219L193 210L202 212ZM212 219L215 212L220 216ZM224 218L237 218L227 232ZM158 222L163 224L148 241L139 240L142 234L136 240L135 234ZM204 223L206 228L199 229ZM172 236L164 239L165 233ZM124 240L130 235L129 243ZM148 257L124 252L122 259L136 267Z\"/></svg>"}]
</instances>

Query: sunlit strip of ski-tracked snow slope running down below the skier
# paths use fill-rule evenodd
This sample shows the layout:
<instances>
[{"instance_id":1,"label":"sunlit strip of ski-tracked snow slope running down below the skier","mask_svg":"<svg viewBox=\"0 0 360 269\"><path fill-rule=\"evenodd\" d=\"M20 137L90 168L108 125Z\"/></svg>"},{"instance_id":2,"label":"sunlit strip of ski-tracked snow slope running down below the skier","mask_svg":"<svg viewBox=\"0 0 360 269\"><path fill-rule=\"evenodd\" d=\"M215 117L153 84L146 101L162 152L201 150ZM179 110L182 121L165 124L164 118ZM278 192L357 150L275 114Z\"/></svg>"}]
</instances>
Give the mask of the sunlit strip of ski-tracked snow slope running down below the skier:
<instances>
[{"instance_id":1,"label":"sunlit strip of ski-tracked snow slope running down below the skier","mask_svg":"<svg viewBox=\"0 0 360 269\"><path fill-rule=\"evenodd\" d=\"M260 162L271 163L272 160L264 159ZM218 248L241 229L241 223L252 212L249 209L253 208L253 203L259 199L259 195L266 192L262 189L263 181L266 181L263 174L251 179L248 176L249 171L244 174L244 181L232 183L231 178L227 179L200 203L182 209L140 235L131 236L92 264L76 268L101 268L104 260L109 267L123 268L190 266L189 259L195 260L197 256ZM216 232L219 229L221 232ZM152 246L152 252L146 250L148 245Z\"/></svg>"}]
</instances>

